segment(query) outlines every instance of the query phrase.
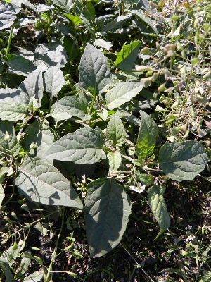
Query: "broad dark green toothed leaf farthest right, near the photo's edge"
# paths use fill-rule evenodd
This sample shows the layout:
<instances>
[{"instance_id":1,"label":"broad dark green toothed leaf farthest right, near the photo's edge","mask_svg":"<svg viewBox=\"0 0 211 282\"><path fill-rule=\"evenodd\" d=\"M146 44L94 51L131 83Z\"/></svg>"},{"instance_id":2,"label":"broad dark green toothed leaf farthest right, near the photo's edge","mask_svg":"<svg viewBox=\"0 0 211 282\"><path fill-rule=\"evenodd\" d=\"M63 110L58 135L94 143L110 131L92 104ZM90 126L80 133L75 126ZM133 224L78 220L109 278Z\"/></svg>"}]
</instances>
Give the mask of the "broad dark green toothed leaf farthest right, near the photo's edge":
<instances>
[{"instance_id":1,"label":"broad dark green toothed leaf farthest right, near the photo's edge","mask_svg":"<svg viewBox=\"0 0 211 282\"><path fill-rule=\"evenodd\" d=\"M158 162L162 171L172 180L193 180L207 165L208 157L203 145L195 140L165 142Z\"/></svg>"}]
</instances>

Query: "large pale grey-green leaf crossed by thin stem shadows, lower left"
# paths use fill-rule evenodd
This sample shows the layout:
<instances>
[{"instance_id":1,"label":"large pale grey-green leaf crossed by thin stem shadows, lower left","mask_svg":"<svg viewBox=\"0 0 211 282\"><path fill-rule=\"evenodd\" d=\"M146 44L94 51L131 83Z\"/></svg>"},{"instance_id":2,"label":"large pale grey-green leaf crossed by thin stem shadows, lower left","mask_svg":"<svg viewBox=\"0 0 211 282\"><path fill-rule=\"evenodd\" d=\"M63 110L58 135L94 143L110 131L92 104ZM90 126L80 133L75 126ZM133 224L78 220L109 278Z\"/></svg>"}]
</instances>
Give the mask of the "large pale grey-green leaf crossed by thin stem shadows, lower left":
<instances>
[{"instance_id":1,"label":"large pale grey-green leaf crossed by thin stem shadows, lower left","mask_svg":"<svg viewBox=\"0 0 211 282\"><path fill-rule=\"evenodd\" d=\"M39 158L26 157L15 179L20 194L47 205L77 207L83 204L70 181L58 169Z\"/></svg>"}]
</instances>

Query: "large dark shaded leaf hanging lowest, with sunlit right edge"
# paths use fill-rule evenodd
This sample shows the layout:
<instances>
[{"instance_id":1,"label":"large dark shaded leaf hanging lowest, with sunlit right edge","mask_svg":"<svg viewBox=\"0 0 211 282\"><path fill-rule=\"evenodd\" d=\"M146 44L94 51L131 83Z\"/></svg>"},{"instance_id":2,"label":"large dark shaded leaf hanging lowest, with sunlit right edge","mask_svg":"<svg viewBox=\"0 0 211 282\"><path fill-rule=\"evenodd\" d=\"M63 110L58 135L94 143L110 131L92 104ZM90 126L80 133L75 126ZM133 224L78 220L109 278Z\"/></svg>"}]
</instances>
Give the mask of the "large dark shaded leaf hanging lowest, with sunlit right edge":
<instances>
[{"instance_id":1,"label":"large dark shaded leaf hanging lowest, with sunlit right edge","mask_svg":"<svg viewBox=\"0 0 211 282\"><path fill-rule=\"evenodd\" d=\"M92 257L101 257L120 243L132 204L114 178L100 178L87 188L84 213L89 250Z\"/></svg>"}]
</instances>

